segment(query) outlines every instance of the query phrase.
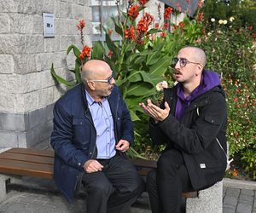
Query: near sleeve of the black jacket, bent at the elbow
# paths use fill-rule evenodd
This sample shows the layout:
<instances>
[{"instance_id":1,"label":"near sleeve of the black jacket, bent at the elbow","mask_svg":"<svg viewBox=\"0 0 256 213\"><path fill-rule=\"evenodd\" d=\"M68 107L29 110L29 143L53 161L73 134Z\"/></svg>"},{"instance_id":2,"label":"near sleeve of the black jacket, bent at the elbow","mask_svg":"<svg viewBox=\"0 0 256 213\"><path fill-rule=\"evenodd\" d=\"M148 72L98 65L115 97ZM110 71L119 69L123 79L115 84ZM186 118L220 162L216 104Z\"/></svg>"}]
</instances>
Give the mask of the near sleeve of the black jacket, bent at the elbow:
<instances>
[{"instance_id":1,"label":"near sleeve of the black jacket, bent at the elbow","mask_svg":"<svg viewBox=\"0 0 256 213\"><path fill-rule=\"evenodd\" d=\"M195 115L196 110L195 107L191 114ZM199 110L199 116L196 116L189 127L178 122L172 115L158 125L158 128L168 137L169 143L175 144L186 153L200 153L212 141L216 141L218 134L221 132L225 134L227 112L222 94L214 92L207 104Z\"/></svg>"}]
</instances>

